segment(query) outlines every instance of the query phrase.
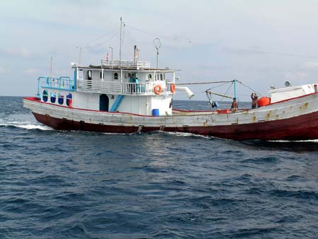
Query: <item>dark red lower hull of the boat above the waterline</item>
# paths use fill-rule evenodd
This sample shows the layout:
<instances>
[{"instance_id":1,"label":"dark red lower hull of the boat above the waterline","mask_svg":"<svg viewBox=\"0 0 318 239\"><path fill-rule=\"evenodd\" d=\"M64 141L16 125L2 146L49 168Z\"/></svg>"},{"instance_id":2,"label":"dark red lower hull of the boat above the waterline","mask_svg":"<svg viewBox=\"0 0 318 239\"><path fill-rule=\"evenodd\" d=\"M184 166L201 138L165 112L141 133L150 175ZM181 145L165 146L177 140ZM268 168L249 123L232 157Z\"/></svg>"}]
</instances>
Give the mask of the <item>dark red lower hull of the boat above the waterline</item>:
<instances>
[{"instance_id":1,"label":"dark red lower hull of the boat above the waterline","mask_svg":"<svg viewBox=\"0 0 318 239\"><path fill-rule=\"evenodd\" d=\"M109 132L130 134L135 132L188 132L223 139L247 140L307 140L318 139L318 112L301 115L290 119L279 119L269 122L236 124L228 126L197 126L197 127L139 127L107 124L90 124L69 119L58 119L49 115L33 113L35 118L54 129L84 130L90 132Z\"/></svg>"}]
</instances>

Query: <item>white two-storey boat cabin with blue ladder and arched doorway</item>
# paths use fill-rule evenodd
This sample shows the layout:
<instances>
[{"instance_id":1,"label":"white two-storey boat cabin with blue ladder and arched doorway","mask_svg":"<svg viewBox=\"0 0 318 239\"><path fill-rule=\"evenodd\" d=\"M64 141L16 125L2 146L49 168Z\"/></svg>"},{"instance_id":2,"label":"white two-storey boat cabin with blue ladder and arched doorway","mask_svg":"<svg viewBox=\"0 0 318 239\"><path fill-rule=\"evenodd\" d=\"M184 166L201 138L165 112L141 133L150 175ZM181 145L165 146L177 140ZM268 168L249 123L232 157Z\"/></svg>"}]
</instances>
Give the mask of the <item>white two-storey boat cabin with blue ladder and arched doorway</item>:
<instances>
[{"instance_id":1,"label":"white two-storey boat cabin with blue ladder and arched doorway","mask_svg":"<svg viewBox=\"0 0 318 239\"><path fill-rule=\"evenodd\" d=\"M172 115L175 70L149 62L102 60L100 66L73 64L73 77L38 78L43 102L86 110Z\"/></svg>"}]
</instances>

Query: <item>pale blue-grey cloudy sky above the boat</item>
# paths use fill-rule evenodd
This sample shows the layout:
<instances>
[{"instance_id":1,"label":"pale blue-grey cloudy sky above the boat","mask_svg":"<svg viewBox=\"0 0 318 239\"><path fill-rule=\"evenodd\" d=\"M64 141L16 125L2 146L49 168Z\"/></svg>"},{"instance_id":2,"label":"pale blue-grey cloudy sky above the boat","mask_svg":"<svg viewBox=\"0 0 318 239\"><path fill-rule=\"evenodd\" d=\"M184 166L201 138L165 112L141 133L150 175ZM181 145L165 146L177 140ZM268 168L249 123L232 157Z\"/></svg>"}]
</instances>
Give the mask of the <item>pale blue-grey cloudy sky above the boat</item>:
<instances>
[{"instance_id":1,"label":"pale blue-grey cloudy sky above the boat","mask_svg":"<svg viewBox=\"0 0 318 239\"><path fill-rule=\"evenodd\" d=\"M267 95L270 86L318 82L317 0L0 0L0 95L35 95L37 78L71 76L71 62L119 59L177 69L179 83L232 81L237 95ZM189 86L193 100L218 85ZM213 89L232 95L230 85ZM175 99L184 100L183 93ZM217 100L217 99L216 99Z\"/></svg>"}]
</instances>

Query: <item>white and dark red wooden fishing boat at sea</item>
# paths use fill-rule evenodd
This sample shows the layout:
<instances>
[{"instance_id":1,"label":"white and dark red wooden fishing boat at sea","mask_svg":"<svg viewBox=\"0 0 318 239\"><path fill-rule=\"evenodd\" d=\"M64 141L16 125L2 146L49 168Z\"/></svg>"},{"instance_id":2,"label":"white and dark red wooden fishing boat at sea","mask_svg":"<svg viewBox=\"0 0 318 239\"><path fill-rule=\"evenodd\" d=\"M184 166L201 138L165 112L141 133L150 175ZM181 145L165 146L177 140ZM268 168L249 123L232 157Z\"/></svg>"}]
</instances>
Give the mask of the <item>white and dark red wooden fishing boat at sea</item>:
<instances>
[{"instance_id":1,"label":"white and dark red wooden fishing boat at sea","mask_svg":"<svg viewBox=\"0 0 318 239\"><path fill-rule=\"evenodd\" d=\"M158 48L157 48L158 50ZM158 53L158 52L157 52ZM317 84L271 89L253 109L177 110L176 70L140 62L103 59L100 65L72 64L73 76L40 76L37 95L23 98L37 121L58 130L107 133L187 132L234 140L318 139ZM158 54L157 54L158 56ZM236 86L237 81L232 81ZM211 91L206 91L207 95Z\"/></svg>"}]
</instances>

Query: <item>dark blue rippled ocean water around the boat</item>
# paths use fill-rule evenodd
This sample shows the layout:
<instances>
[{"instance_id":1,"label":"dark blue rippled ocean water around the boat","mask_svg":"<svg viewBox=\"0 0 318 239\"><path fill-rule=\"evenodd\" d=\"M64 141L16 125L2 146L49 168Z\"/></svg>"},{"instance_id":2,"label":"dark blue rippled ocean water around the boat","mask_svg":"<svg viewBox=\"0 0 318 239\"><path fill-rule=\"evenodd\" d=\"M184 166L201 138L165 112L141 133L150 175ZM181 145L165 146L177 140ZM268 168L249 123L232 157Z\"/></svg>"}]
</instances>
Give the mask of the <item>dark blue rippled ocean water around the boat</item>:
<instances>
[{"instance_id":1,"label":"dark blue rippled ocean water around the boat","mask_svg":"<svg viewBox=\"0 0 318 239\"><path fill-rule=\"evenodd\" d=\"M0 97L0 238L317 236L318 141L61 132Z\"/></svg>"}]
</instances>

